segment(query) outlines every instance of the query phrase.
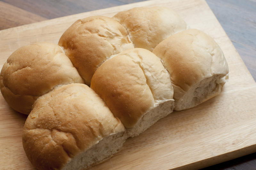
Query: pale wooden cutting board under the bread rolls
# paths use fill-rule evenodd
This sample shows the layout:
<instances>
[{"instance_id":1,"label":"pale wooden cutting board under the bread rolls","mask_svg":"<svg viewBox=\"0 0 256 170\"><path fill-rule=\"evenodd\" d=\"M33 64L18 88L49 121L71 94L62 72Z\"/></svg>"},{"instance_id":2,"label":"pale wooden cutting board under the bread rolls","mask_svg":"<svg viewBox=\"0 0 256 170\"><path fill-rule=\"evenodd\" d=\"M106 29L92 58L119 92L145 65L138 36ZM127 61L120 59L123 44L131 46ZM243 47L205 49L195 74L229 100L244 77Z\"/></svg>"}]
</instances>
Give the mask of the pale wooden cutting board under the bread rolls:
<instances>
[{"instance_id":1,"label":"pale wooden cutting board under the bread rolls","mask_svg":"<svg viewBox=\"0 0 256 170\"><path fill-rule=\"evenodd\" d=\"M160 2L160 3L159 3ZM51 19L0 31L0 68L21 46L58 43L77 19L139 6L165 6L220 45L229 66L222 92L189 110L173 112L140 136L129 138L114 157L92 169L202 168L256 152L256 83L204 0L145 1ZM13 111L0 95L0 169L34 169L22 147L26 115Z\"/></svg>"}]
</instances>

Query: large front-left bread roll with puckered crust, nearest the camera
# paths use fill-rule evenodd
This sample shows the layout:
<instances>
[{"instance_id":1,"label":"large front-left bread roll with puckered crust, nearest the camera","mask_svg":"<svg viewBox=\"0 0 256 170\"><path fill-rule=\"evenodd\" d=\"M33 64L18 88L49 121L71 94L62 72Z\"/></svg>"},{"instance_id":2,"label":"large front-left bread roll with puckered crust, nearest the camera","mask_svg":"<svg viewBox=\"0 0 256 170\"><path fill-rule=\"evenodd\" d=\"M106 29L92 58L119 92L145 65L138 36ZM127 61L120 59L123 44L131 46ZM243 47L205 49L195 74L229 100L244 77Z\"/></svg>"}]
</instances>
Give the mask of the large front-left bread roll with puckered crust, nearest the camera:
<instances>
[{"instance_id":1,"label":"large front-left bread roll with puckered crust, nearest the camera","mask_svg":"<svg viewBox=\"0 0 256 170\"><path fill-rule=\"evenodd\" d=\"M63 85L39 97L22 142L37 169L84 169L116 153L125 128L85 84Z\"/></svg>"}]
</instances>

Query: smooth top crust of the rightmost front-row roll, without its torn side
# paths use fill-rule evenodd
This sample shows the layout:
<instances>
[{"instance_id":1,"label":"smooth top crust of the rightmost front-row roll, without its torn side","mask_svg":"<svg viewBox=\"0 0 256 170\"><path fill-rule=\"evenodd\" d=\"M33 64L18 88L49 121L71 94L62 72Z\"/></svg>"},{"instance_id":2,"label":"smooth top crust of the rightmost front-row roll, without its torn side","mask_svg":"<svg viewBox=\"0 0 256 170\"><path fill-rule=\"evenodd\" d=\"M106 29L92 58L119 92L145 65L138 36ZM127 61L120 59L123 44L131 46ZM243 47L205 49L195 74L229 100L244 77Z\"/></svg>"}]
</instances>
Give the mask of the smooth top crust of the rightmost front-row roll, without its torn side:
<instances>
[{"instance_id":1,"label":"smooth top crust of the rightmost front-row roll, without its torn side","mask_svg":"<svg viewBox=\"0 0 256 170\"><path fill-rule=\"evenodd\" d=\"M214 74L228 74L228 64L219 45L204 32L188 29L170 36L153 50L171 75L174 99Z\"/></svg>"}]
</instances>

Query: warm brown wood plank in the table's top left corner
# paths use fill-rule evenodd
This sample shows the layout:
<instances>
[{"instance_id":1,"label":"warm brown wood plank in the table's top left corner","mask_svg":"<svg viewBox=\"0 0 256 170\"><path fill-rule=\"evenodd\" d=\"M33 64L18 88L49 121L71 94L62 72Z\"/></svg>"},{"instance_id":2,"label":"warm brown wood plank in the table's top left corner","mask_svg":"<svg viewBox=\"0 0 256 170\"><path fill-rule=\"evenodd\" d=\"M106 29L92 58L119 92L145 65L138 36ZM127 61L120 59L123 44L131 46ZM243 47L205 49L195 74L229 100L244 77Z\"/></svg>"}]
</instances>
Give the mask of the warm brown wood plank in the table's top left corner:
<instances>
[{"instance_id":1,"label":"warm brown wood plank in the table's top left corner","mask_svg":"<svg viewBox=\"0 0 256 170\"><path fill-rule=\"evenodd\" d=\"M46 20L34 13L0 1L0 30Z\"/></svg>"}]
</instances>

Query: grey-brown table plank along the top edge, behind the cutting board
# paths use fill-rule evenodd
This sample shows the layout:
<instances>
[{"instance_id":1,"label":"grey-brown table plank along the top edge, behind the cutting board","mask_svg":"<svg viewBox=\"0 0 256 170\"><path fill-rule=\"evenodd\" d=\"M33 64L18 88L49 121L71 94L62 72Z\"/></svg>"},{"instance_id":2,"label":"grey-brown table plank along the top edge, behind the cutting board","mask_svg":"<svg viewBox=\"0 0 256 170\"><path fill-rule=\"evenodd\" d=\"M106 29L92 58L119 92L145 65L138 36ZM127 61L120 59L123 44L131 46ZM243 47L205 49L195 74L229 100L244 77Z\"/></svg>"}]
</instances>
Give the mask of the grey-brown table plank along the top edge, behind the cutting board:
<instances>
[{"instance_id":1,"label":"grey-brown table plank along the top edge, behind the cutting board","mask_svg":"<svg viewBox=\"0 0 256 170\"><path fill-rule=\"evenodd\" d=\"M36 13L42 17L53 19L82 13L87 11L98 10L102 8L113 7L117 5L130 4L143 0L2 0L8 4L18 6L28 12Z\"/></svg>"}]
</instances>

